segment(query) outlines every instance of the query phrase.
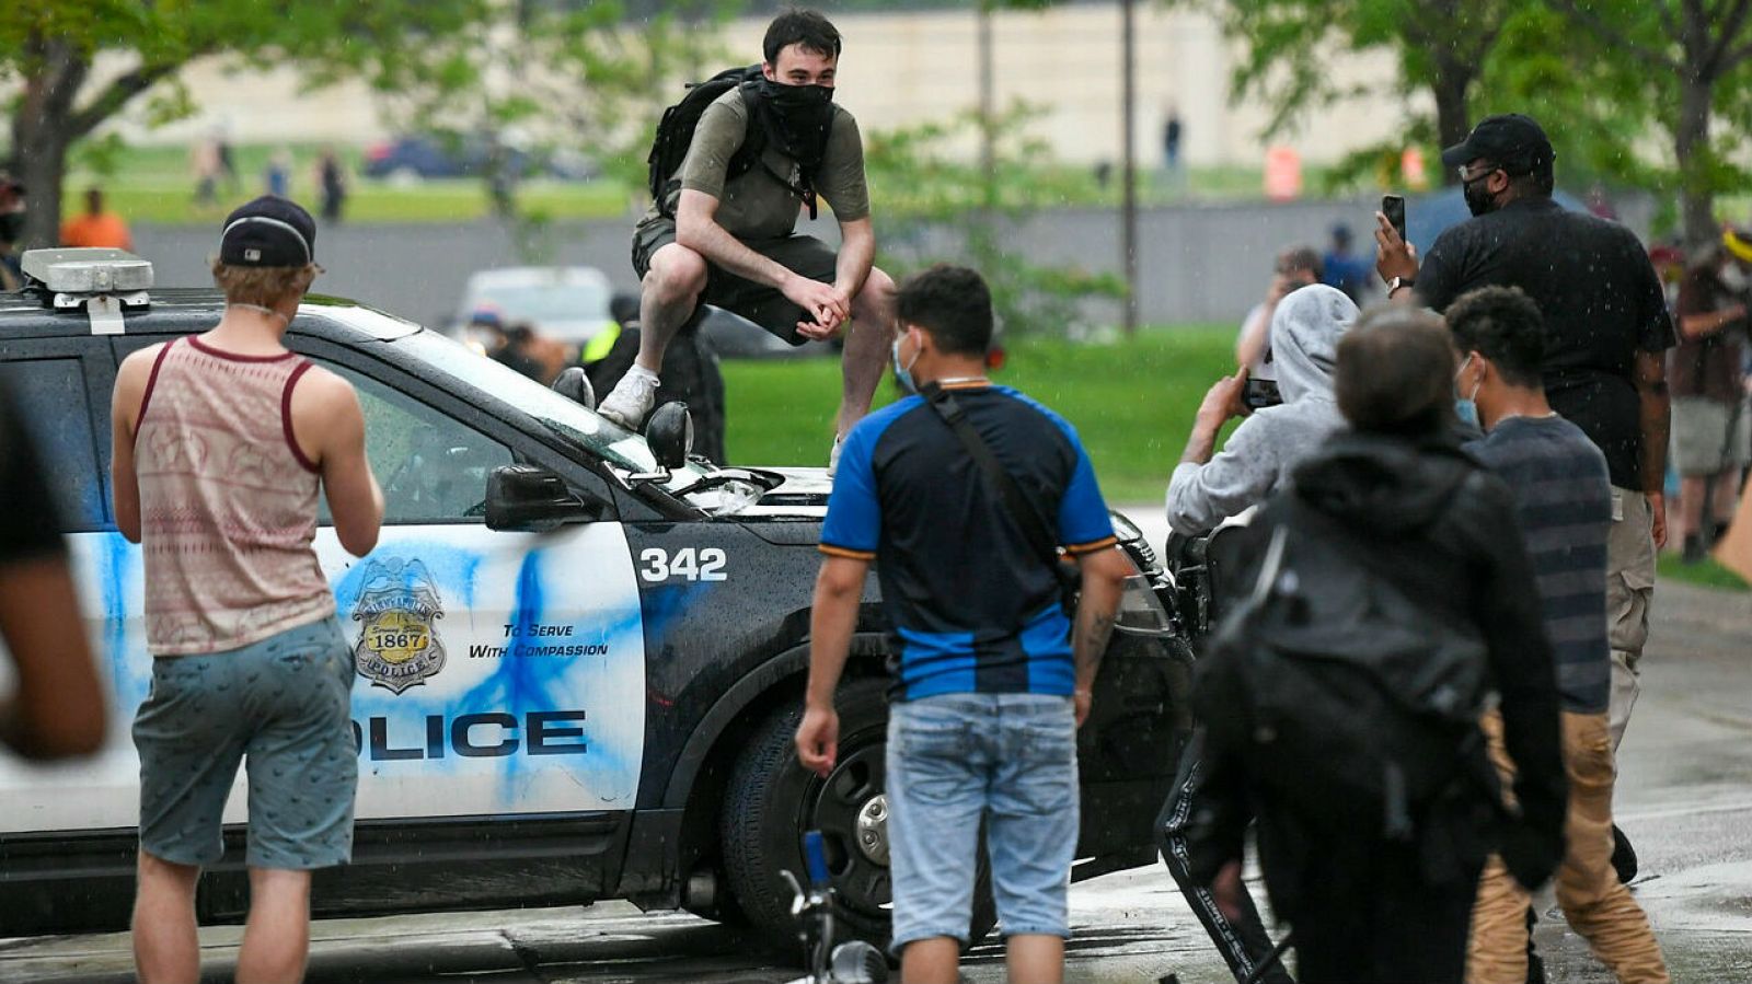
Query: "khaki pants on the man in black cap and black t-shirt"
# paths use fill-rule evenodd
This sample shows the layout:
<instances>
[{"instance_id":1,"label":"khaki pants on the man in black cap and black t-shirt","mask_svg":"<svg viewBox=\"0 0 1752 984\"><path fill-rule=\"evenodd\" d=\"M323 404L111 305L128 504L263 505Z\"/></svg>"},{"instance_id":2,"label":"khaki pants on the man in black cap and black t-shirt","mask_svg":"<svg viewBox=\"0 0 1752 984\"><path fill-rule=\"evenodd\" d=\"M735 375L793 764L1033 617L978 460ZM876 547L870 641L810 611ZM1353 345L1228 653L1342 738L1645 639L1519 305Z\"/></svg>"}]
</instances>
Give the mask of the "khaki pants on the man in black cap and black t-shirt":
<instances>
[{"instance_id":1,"label":"khaki pants on the man in black cap and black t-shirt","mask_svg":"<svg viewBox=\"0 0 1752 984\"><path fill-rule=\"evenodd\" d=\"M1612 488L1612 529L1607 532L1607 639L1612 644L1612 748L1624 741L1631 707L1642 693L1649 602L1654 601L1654 510L1649 496Z\"/></svg>"}]
</instances>

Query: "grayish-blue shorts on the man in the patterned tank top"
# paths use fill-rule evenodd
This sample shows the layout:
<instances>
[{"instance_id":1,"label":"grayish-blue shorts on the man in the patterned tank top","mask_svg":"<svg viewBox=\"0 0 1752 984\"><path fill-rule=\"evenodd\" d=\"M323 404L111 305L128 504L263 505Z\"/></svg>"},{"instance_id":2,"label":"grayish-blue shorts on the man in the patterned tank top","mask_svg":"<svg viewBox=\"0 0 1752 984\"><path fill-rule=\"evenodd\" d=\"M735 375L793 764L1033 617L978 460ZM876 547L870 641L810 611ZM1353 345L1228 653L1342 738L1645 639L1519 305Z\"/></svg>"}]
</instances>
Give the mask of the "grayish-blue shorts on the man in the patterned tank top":
<instances>
[{"instance_id":1,"label":"grayish-blue shorts on the man in the patterned tank top","mask_svg":"<svg viewBox=\"0 0 1752 984\"><path fill-rule=\"evenodd\" d=\"M133 718L140 849L179 865L217 861L224 802L247 762L249 867L345 863L359 783L352 678L333 616L228 653L154 658L152 692Z\"/></svg>"}]
</instances>

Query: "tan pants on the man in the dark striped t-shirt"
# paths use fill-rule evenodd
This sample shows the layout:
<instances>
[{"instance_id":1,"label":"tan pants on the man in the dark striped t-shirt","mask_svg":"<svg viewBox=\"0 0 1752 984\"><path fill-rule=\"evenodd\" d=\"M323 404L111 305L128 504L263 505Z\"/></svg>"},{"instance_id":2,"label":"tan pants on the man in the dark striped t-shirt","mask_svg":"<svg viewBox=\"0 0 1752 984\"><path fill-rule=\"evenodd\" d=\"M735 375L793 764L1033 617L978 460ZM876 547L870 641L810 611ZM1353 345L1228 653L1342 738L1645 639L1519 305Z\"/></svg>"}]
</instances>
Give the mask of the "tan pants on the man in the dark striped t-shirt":
<instances>
[{"instance_id":1,"label":"tan pants on the man in the dark striped t-shirt","mask_svg":"<svg viewBox=\"0 0 1752 984\"><path fill-rule=\"evenodd\" d=\"M1480 723L1491 760L1508 786L1515 767L1503 748L1503 720L1491 711ZM1563 713L1563 760L1570 774L1570 809L1563 826L1568 849L1558 868L1558 905L1570 928L1622 984L1668 984L1671 979L1649 917L1612 870L1614 765L1605 714ZM1524 984L1529 902L1503 860L1491 856L1472 907L1468 984Z\"/></svg>"}]
</instances>

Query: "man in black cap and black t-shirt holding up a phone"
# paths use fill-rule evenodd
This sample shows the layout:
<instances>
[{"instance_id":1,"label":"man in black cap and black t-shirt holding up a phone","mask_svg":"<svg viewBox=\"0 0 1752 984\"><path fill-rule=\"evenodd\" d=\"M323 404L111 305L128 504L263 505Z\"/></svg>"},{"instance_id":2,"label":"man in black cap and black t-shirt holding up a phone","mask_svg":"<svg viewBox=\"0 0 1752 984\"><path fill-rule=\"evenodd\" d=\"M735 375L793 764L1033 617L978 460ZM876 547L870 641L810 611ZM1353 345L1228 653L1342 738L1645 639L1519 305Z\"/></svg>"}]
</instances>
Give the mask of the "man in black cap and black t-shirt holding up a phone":
<instances>
[{"instance_id":1,"label":"man in black cap and black t-shirt holding up a phone","mask_svg":"<svg viewBox=\"0 0 1752 984\"><path fill-rule=\"evenodd\" d=\"M1673 319L1649 254L1617 222L1552 200L1545 131L1521 114L1491 116L1442 151L1473 219L1430 247L1419 264L1386 215L1375 215L1375 270L1396 303L1445 312L1477 287L1519 287L1545 320L1540 382L1552 410L1582 429L1612 476L1607 609L1612 641L1612 742L1624 739L1649 639L1656 550L1666 545L1670 399L1666 350ZM1621 842L1619 874L1636 870Z\"/></svg>"}]
</instances>

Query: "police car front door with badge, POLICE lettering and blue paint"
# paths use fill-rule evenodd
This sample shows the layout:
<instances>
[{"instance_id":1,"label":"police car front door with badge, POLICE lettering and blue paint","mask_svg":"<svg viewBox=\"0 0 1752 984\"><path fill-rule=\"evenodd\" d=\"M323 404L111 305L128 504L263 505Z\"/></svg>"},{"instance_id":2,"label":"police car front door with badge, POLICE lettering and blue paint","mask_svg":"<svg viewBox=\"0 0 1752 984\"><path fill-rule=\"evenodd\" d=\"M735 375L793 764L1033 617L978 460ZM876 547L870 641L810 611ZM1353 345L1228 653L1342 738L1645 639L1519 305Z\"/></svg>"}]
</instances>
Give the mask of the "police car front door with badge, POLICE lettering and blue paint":
<instances>
[{"instance_id":1,"label":"police car front door with badge, POLICE lettering and blue paint","mask_svg":"<svg viewBox=\"0 0 1752 984\"><path fill-rule=\"evenodd\" d=\"M366 559L317 538L359 676L359 819L632 809L645 643L620 524L489 531L491 471L545 448L415 380L319 362L354 383L384 487Z\"/></svg>"}]
</instances>

